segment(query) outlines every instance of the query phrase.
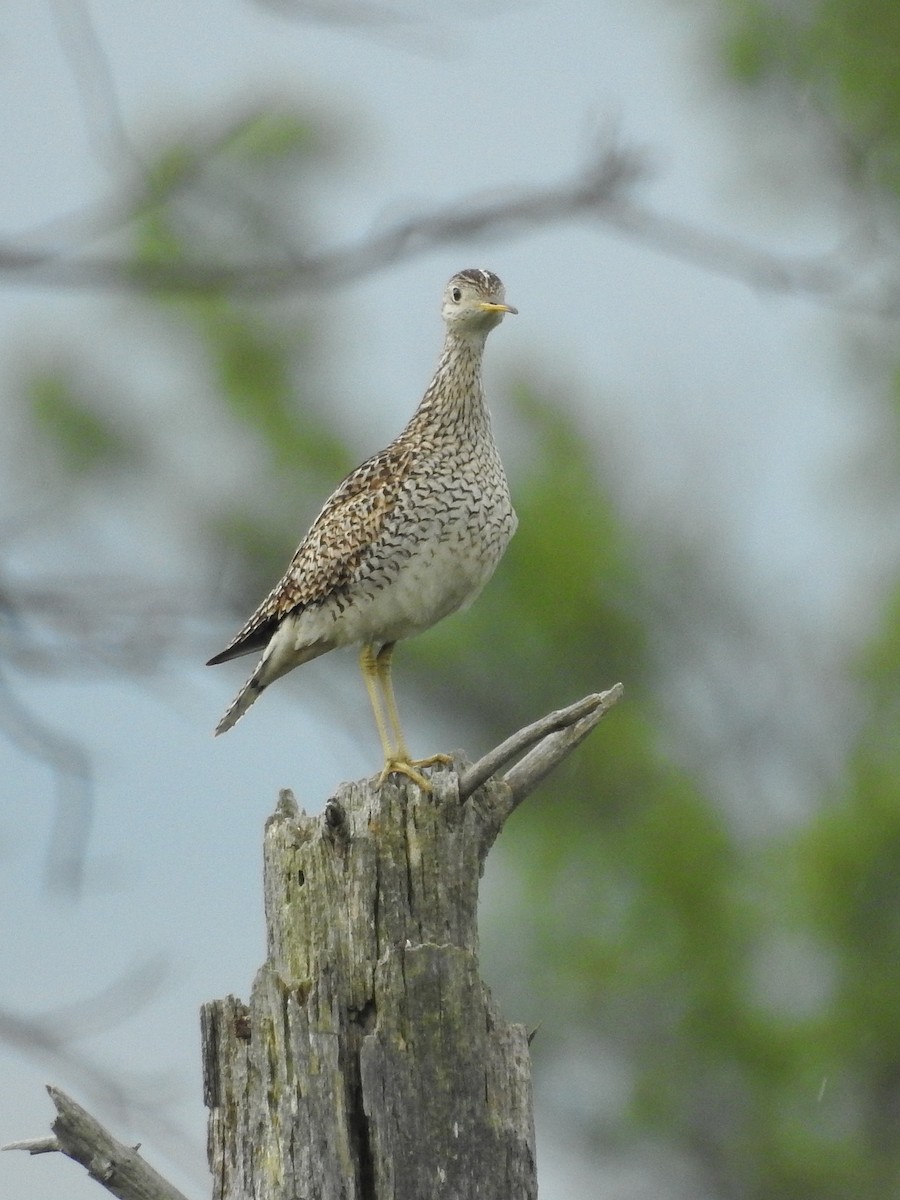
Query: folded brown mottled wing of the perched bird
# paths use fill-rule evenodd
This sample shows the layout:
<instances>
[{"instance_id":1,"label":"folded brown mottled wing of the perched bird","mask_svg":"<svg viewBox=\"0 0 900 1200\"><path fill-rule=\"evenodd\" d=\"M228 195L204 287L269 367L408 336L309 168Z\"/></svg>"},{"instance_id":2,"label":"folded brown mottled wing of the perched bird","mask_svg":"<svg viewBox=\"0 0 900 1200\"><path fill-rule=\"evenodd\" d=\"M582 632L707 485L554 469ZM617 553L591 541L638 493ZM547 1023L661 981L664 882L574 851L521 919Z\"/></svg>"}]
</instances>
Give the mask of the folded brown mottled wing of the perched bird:
<instances>
[{"instance_id":1,"label":"folded brown mottled wing of the perched bird","mask_svg":"<svg viewBox=\"0 0 900 1200\"><path fill-rule=\"evenodd\" d=\"M262 649L288 613L320 604L353 584L364 559L377 547L385 520L401 500L410 457L408 448L391 443L338 484L284 576L208 666Z\"/></svg>"}]
</instances>

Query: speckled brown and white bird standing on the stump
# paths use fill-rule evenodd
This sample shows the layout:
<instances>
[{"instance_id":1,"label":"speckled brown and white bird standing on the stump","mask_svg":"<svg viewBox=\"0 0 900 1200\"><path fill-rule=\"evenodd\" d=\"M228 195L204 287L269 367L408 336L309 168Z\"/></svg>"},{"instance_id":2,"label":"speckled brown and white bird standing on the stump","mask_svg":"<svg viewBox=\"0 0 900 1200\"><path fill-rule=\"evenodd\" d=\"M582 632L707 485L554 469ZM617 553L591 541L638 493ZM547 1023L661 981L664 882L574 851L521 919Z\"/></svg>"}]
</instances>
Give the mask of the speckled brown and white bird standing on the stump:
<instances>
[{"instance_id":1,"label":"speckled brown and white bird standing on the stump","mask_svg":"<svg viewBox=\"0 0 900 1200\"><path fill-rule=\"evenodd\" d=\"M440 358L406 428L338 484L280 582L206 664L262 650L216 734L288 671L358 646L384 754L379 784L402 774L428 791L420 768L450 761L410 757L391 659L398 641L475 600L516 530L481 380L485 341L508 313L517 310L492 271L449 281Z\"/></svg>"}]
</instances>

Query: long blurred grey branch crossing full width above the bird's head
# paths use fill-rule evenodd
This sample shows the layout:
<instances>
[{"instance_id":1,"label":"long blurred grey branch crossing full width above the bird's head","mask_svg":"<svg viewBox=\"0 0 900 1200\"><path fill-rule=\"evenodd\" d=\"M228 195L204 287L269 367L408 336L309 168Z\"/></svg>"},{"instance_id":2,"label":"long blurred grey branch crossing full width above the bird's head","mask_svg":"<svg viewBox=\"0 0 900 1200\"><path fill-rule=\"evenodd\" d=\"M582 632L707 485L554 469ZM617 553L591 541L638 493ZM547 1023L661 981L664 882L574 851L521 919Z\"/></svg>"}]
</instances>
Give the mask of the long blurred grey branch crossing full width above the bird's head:
<instances>
[{"instance_id":1,"label":"long blurred grey branch crossing full width above the bird's head","mask_svg":"<svg viewBox=\"0 0 900 1200\"><path fill-rule=\"evenodd\" d=\"M214 148L215 152L215 148ZM196 170L202 169L202 163ZM818 254L786 254L731 234L660 214L638 203L635 186L649 170L634 149L600 145L568 180L530 188L470 196L396 222L334 250L304 253L287 245L276 259L241 263L138 260L0 240L0 280L76 289L132 289L181 294L229 293L271 296L320 292L384 270L439 246L479 236L516 236L550 224L592 220L672 258L740 280L751 287L809 295L829 305L875 316L900 311L900 264L886 263L886 247L848 236ZM152 206L148 197L139 208ZM113 208L106 211L113 220ZM132 212L134 209L132 208ZM115 224L121 221L115 218ZM102 234L95 220L91 236Z\"/></svg>"}]
</instances>

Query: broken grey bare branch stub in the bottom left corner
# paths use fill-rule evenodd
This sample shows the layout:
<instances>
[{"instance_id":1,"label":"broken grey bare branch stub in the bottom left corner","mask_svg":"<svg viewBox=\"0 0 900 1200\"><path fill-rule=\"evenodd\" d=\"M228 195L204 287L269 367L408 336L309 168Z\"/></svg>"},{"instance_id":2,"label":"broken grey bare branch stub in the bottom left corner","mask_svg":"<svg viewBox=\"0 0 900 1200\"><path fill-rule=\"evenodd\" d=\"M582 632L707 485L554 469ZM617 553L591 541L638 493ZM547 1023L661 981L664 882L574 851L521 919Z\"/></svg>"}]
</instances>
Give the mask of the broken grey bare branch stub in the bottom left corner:
<instances>
[{"instance_id":1,"label":"broken grey bare branch stub in the bottom left corner","mask_svg":"<svg viewBox=\"0 0 900 1200\"><path fill-rule=\"evenodd\" d=\"M26 1150L30 1154L60 1151L80 1163L92 1180L119 1200L186 1200L182 1192L144 1162L137 1147L116 1141L96 1117L58 1087L49 1086L47 1091L56 1105L53 1122L56 1136L14 1141L4 1150Z\"/></svg>"}]
</instances>

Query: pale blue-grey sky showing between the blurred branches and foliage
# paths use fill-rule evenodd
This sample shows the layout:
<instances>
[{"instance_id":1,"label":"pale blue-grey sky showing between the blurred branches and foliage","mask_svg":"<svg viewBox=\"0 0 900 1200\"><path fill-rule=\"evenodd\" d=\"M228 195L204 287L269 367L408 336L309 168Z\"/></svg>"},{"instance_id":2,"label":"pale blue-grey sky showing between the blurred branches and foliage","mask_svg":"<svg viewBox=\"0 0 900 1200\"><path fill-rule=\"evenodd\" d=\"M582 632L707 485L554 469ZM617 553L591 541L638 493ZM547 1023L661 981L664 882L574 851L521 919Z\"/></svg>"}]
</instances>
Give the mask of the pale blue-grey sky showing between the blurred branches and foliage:
<instances>
[{"instance_id":1,"label":"pale blue-grey sky showing between the blurred branches and foliage","mask_svg":"<svg viewBox=\"0 0 900 1200\"><path fill-rule=\"evenodd\" d=\"M396 4L392 11L422 7ZM811 137L804 140L793 118L754 118L715 84L703 5L504 0L492 8L430 7L433 20L402 23L392 41L289 23L252 4L90 5L138 145L176 131L185 110L203 124L254 98L337 113L355 149L352 169L335 175L317 212L328 244L456 198L557 182L608 127L646 150L655 175L641 196L662 212L792 253L830 248L841 236L841 198L817 186ZM52 13L65 8L10 0L0 18L4 235L53 228L116 185L114 163L91 145L60 50ZM790 157L791 170L773 145ZM497 271L520 310L492 335L488 390L491 380L532 365L557 373L606 451L610 487L635 520L680 503L686 490L698 514L715 516L727 569L740 586L758 589L808 630L827 630L847 614L864 626L871 605L860 596L878 569L877 530L866 536L859 514L832 498L832 473L848 439L865 446L871 418L860 413L841 356L839 318L587 222L444 248L322 301L348 428L366 452L392 437L418 402L439 348L443 283L469 265ZM878 336L877 329L862 334ZM173 431L179 446L168 469L176 475L184 455L209 486L241 486L240 444L229 443L224 457L218 443L204 444L203 384L197 382L193 407L185 395L190 366L152 360L127 301L0 288L7 388L23 344L54 348L101 337L115 371L137 376L139 368L133 384L146 397L149 419L170 380L167 413L181 412L184 426ZM496 416L502 432L503 413ZM4 460L12 463L22 430L12 416L10 424ZM252 486L264 488L264 480ZM24 516L14 497L0 496L4 528L17 527ZM138 586L178 586L190 571L176 523L176 511L148 514L139 498L115 515L100 503L96 511L61 511L34 539L13 542L5 569L28 582L46 580L58 564L77 574L108 556L109 569L132 572ZM304 532L299 516L298 540ZM286 558L293 548L286 546ZM293 787L301 804L317 809L341 779L379 764L353 664L334 656L268 692L234 734L214 742L211 730L246 664L208 672L202 661L229 632L211 631L196 661L169 660L166 676L145 689L103 677L10 677L23 702L91 755L95 823L77 904L54 900L42 887L50 774L0 742L0 1004L20 1015L77 1006L148 960L167 964L146 1007L76 1045L104 1070L122 1073L124 1082L162 1078L154 1103L160 1123L149 1112L127 1117L104 1106L77 1066L66 1073L0 1045L0 1142L48 1132L43 1084L55 1082L119 1136L140 1140L146 1157L196 1196L208 1194L198 1009L227 992L246 997L262 961L263 822L280 787ZM396 678L402 704L401 667ZM434 716L410 722L416 744L445 737L434 730ZM463 736L473 734L454 730L454 744ZM467 749L475 755L487 746ZM484 967L491 980L491 962ZM538 1024L546 1016L528 996L516 1003L509 1010L504 1002L510 1019ZM538 1080L539 1097L541 1087ZM584 1181L595 1178L593 1168L566 1153L564 1133L546 1112L542 1118L539 1106L541 1195L589 1195ZM653 1192L653 1181L662 1187L673 1177L668 1162L613 1166L619 1198L664 1195ZM101 1194L58 1156L19 1154L0 1158L0 1192L19 1200Z\"/></svg>"}]
</instances>

